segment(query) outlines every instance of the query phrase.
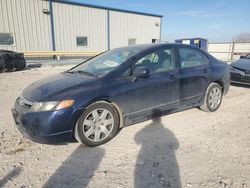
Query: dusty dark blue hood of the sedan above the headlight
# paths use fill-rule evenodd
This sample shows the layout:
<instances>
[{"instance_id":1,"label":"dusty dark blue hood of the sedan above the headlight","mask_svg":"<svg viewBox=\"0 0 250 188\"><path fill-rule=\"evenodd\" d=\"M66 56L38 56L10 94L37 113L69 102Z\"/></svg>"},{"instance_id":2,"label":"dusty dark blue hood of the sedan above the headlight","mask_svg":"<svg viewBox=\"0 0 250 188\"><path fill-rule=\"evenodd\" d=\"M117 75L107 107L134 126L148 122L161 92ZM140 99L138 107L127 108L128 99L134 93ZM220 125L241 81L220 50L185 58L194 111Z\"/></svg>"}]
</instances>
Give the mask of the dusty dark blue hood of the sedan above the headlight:
<instances>
[{"instance_id":1,"label":"dusty dark blue hood of the sedan above the headlight","mask_svg":"<svg viewBox=\"0 0 250 188\"><path fill-rule=\"evenodd\" d=\"M94 77L64 72L32 83L24 89L22 96L31 102L72 98L77 91L90 89L95 80Z\"/></svg>"}]
</instances>

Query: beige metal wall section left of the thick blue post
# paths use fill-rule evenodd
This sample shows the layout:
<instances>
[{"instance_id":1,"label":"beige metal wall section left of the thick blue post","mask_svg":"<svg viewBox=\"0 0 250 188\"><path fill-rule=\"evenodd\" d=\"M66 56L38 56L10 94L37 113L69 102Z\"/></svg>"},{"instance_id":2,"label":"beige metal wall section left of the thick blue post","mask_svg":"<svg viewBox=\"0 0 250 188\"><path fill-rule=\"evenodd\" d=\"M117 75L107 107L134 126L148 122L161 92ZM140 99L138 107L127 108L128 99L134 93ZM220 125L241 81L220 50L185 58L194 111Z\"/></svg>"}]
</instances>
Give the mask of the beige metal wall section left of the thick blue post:
<instances>
[{"instance_id":1,"label":"beige metal wall section left of the thick blue post","mask_svg":"<svg viewBox=\"0 0 250 188\"><path fill-rule=\"evenodd\" d=\"M51 50L50 18L42 12L41 0L0 0L0 33L13 33L15 44L0 49L15 51Z\"/></svg>"}]
</instances>

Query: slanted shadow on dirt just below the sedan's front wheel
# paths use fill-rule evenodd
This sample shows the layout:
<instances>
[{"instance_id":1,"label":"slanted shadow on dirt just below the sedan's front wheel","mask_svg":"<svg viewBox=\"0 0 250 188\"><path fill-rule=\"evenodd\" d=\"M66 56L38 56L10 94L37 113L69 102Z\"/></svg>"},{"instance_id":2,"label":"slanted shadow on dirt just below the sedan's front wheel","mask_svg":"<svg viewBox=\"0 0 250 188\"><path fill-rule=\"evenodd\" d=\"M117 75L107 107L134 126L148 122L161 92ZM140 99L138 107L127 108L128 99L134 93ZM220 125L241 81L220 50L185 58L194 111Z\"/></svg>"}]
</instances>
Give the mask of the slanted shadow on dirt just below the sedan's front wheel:
<instances>
[{"instance_id":1,"label":"slanted shadow on dirt just below the sedan's front wheel","mask_svg":"<svg viewBox=\"0 0 250 188\"><path fill-rule=\"evenodd\" d=\"M101 147L78 146L43 187L88 187L104 154Z\"/></svg>"}]
</instances>

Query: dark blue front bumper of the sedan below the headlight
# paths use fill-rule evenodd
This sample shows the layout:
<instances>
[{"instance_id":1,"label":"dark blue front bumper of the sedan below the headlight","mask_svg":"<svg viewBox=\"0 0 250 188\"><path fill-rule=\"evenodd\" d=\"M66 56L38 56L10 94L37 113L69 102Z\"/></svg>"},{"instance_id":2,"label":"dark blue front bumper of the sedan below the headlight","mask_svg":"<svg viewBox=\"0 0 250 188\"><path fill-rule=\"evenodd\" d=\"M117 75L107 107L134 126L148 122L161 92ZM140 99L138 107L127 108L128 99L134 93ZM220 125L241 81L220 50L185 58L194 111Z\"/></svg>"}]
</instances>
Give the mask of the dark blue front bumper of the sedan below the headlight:
<instances>
[{"instance_id":1,"label":"dark blue front bumper of the sedan below the headlight","mask_svg":"<svg viewBox=\"0 0 250 188\"><path fill-rule=\"evenodd\" d=\"M18 130L27 138L45 144L71 141L75 121L73 109L58 111L30 112L18 100L12 109L12 115Z\"/></svg>"}]
</instances>

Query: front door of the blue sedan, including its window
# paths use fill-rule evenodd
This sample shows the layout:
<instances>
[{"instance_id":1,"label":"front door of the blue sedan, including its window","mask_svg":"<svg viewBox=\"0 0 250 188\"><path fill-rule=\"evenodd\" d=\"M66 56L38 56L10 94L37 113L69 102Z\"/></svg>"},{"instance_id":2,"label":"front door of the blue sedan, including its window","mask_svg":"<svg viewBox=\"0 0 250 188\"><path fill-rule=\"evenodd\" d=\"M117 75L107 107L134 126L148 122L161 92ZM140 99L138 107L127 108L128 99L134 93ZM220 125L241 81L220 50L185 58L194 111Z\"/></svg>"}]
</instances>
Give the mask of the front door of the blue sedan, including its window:
<instances>
[{"instance_id":1,"label":"front door of the blue sedan, including its window","mask_svg":"<svg viewBox=\"0 0 250 188\"><path fill-rule=\"evenodd\" d=\"M133 71L146 67L149 76L138 78L132 71L130 76L121 76L116 81L119 93L115 101L122 108L125 120L133 123L178 107L180 83L175 59L174 48L164 48L148 52L131 62Z\"/></svg>"}]
</instances>

